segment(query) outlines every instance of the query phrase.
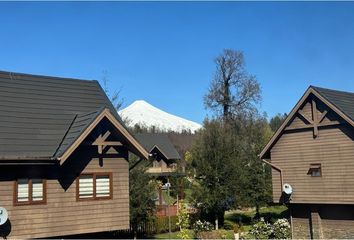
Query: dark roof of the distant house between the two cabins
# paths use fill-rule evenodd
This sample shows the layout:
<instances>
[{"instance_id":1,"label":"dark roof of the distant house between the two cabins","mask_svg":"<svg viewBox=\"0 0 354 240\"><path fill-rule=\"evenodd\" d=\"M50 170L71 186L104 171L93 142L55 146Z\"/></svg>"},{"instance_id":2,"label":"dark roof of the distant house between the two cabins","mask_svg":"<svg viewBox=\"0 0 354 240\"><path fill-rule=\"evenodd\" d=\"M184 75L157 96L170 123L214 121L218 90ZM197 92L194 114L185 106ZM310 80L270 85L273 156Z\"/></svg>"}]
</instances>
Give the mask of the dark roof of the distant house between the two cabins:
<instances>
[{"instance_id":1,"label":"dark roof of the distant house between the two cabins","mask_svg":"<svg viewBox=\"0 0 354 240\"><path fill-rule=\"evenodd\" d=\"M148 152L157 146L167 159L181 159L176 148L164 133L139 133L135 134L135 137Z\"/></svg>"}]
</instances>

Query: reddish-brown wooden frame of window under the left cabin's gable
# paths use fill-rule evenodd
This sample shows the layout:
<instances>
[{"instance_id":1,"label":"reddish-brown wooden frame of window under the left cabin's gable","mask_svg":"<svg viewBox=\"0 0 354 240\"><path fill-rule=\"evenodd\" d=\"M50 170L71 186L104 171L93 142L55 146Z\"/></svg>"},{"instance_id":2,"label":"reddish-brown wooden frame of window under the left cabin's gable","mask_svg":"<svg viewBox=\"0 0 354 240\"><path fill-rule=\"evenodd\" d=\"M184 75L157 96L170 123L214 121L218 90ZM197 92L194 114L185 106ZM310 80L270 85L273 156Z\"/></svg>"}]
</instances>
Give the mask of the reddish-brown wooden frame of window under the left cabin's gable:
<instances>
[{"instance_id":1,"label":"reddish-brown wooden frame of window under the left cabin's gable","mask_svg":"<svg viewBox=\"0 0 354 240\"><path fill-rule=\"evenodd\" d=\"M80 183L79 179L81 176L92 176L93 179L93 193L92 197L89 198L80 198ZM96 178L97 176L107 176L109 177L109 196L107 197L97 197L96 196ZM95 200L110 200L113 199L113 174L112 172L91 172L91 173L82 173L76 178L76 201L95 201Z\"/></svg>"}]
</instances>

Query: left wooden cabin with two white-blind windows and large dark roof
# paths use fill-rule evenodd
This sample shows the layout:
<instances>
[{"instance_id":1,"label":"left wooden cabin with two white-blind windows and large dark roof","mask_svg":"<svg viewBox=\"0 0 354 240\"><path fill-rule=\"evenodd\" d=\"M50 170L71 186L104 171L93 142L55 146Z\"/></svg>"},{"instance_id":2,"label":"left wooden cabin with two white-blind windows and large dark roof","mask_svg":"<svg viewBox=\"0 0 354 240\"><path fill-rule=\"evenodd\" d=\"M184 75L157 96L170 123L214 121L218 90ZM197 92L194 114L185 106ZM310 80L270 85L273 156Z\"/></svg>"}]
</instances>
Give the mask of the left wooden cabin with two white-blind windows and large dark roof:
<instances>
[{"instance_id":1,"label":"left wooden cabin with two white-blind windows and large dark roof","mask_svg":"<svg viewBox=\"0 0 354 240\"><path fill-rule=\"evenodd\" d=\"M97 81L0 72L0 237L129 228L128 152L149 155Z\"/></svg>"}]
</instances>

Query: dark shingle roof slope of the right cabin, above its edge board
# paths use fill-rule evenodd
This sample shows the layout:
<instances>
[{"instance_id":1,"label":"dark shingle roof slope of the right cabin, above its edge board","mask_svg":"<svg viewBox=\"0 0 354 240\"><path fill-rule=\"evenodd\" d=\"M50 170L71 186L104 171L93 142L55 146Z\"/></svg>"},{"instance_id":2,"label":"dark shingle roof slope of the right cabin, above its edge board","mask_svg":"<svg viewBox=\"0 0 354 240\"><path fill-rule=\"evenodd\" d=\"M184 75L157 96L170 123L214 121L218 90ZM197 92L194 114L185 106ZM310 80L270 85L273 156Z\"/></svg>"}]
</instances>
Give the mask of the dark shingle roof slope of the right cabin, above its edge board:
<instances>
[{"instance_id":1,"label":"dark shingle roof slope of the right cabin, above its edge board","mask_svg":"<svg viewBox=\"0 0 354 240\"><path fill-rule=\"evenodd\" d=\"M354 121L354 93L311 87Z\"/></svg>"}]
</instances>

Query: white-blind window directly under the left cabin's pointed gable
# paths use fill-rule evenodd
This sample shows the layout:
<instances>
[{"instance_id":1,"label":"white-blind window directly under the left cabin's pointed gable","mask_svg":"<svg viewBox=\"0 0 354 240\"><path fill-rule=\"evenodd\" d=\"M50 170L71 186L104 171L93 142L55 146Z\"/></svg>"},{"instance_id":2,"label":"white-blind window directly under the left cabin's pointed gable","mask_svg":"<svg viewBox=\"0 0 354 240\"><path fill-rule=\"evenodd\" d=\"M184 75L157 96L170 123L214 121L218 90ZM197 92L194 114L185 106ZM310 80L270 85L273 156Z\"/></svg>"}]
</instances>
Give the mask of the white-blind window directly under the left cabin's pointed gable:
<instances>
[{"instance_id":1,"label":"white-blind window directly under the left cabin's pointed gable","mask_svg":"<svg viewBox=\"0 0 354 240\"><path fill-rule=\"evenodd\" d=\"M82 174L77 180L77 199L95 200L112 198L112 174Z\"/></svg>"}]
</instances>

